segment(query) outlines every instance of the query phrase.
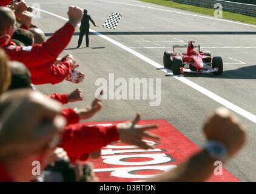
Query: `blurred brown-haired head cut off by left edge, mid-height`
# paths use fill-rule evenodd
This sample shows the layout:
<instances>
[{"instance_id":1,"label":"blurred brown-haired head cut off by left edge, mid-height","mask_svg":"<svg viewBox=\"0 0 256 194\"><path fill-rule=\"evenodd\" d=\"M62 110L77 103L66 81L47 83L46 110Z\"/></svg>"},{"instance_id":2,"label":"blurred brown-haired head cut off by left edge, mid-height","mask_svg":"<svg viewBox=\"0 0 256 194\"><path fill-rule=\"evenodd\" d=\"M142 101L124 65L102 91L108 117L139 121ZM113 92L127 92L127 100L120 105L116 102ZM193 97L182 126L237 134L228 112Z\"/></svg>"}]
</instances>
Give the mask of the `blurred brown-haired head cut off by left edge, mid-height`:
<instances>
[{"instance_id":1,"label":"blurred brown-haired head cut off by left edge, mid-height","mask_svg":"<svg viewBox=\"0 0 256 194\"><path fill-rule=\"evenodd\" d=\"M5 55L4 50L0 48L0 95L4 93L11 81L10 67L8 65L8 58Z\"/></svg>"}]
</instances>

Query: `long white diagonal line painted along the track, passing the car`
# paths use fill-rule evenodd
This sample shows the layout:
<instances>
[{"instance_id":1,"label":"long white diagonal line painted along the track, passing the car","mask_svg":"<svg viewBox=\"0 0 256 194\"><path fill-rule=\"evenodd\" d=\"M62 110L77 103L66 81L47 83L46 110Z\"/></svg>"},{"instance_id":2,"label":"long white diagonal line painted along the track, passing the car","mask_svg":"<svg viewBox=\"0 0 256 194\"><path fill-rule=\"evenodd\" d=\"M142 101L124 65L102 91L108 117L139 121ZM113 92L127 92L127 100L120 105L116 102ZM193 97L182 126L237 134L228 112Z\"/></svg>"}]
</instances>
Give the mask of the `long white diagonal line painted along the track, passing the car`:
<instances>
[{"instance_id":1,"label":"long white diagonal line painted along the track, passing the car","mask_svg":"<svg viewBox=\"0 0 256 194\"><path fill-rule=\"evenodd\" d=\"M41 10L38 8L35 8L36 10ZM56 18L63 19L64 21L68 21L67 18L64 18L62 16L56 15L51 12L47 12L45 10L41 10L41 12L47 13L49 15L55 16ZM216 95L215 93L204 89L204 87L201 87L200 85L190 81L187 78L184 78L182 76L173 76L173 73L171 70L165 69L163 65L158 64L157 62L153 61L152 59L147 58L146 56L142 55L141 53L136 52L135 50L130 49L129 47L126 47L126 45L121 44L120 42L117 42L111 38L109 38L106 35L103 35L99 32L96 32L95 30L90 29L90 32L94 33L95 35L98 35L99 37L105 39L106 41L111 42L112 44L115 44L116 46L120 47L121 49L126 50L127 52L131 53L132 55L135 55L136 57L142 59L143 61L147 62L148 64L152 65L153 67L160 69L167 75L171 75L173 78L177 79L178 81L183 82L184 84L188 85L189 87L192 87L193 89L197 90L198 92L202 93L203 95L208 96L209 98L213 99L214 101L220 103L221 105L224 105L228 109L234 111L238 115L243 116L244 118L248 119L249 121L252 121L256 123L256 116L252 113L242 109L241 107L238 107L237 105L233 104L232 102L227 101L226 99Z\"/></svg>"}]
</instances>

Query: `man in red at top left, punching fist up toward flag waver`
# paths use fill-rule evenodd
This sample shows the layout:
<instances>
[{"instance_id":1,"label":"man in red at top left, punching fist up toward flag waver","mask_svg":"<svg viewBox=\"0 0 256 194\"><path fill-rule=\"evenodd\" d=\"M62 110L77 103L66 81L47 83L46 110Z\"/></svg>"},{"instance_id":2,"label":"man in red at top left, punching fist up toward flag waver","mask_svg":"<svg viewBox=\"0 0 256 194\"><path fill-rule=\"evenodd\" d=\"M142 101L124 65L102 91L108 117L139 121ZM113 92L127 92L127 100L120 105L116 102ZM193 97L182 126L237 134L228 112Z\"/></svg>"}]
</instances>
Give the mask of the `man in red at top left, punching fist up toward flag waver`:
<instances>
[{"instance_id":1,"label":"man in red at top left, punching fist up toward flag waver","mask_svg":"<svg viewBox=\"0 0 256 194\"><path fill-rule=\"evenodd\" d=\"M13 35L13 30L15 27L15 14L12 10L10 10L10 8L0 7L0 20L3 21L0 26L0 47L5 50L10 60L24 63L32 71L33 77L36 78L39 76L41 79L47 79L43 82L37 80L39 84L44 84L47 82L55 84L56 82L59 82L60 79L63 80L63 78L68 78L68 76L70 76L70 78L68 78L69 81L83 81L84 74L81 72L75 72L73 70L73 64L71 64L70 61L64 61L63 68L58 68L53 65L62 50L64 50L67 44L69 44L76 25L79 23L79 21L81 21L83 10L78 7L69 7L68 15L69 22L67 22L64 27L59 29L43 44L34 44L29 47L19 47L16 46L10 38ZM29 22L27 25L29 27ZM47 76L52 72L53 76ZM40 73L44 73L44 75L40 76ZM59 75L61 75L61 78Z\"/></svg>"}]
</instances>

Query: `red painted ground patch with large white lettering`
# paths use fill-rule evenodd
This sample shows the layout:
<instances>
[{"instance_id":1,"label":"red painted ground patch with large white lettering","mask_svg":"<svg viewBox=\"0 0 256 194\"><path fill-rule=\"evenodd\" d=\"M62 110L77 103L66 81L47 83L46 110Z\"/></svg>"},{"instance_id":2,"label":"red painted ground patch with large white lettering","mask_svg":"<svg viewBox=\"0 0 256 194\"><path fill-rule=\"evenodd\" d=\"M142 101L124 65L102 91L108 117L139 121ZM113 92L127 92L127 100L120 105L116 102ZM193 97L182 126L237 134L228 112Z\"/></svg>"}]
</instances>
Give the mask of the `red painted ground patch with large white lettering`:
<instances>
[{"instance_id":1,"label":"red painted ground patch with large white lettering","mask_svg":"<svg viewBox=\"0 0 256 194\"><path fill-rule=\"evenodd\" d=\"M110 125L122 121L110 121ZM88 122L89 125L109 125L109 122ZM157 124L158 130L152 133L161 137L160 141L144 139L147 144L154 145L155 149L141 150L136 146L113 142L104 147L101 157L92 159L96 173L100 181L141 181L153 178L156 175L175 169L177 164L190 155L198 152L200 148L175 129L165 119L143 120L140 124ZM232 173L223 168L223 175L212 174L207 181L239 181Z\"/></svg>"}]
</instances>

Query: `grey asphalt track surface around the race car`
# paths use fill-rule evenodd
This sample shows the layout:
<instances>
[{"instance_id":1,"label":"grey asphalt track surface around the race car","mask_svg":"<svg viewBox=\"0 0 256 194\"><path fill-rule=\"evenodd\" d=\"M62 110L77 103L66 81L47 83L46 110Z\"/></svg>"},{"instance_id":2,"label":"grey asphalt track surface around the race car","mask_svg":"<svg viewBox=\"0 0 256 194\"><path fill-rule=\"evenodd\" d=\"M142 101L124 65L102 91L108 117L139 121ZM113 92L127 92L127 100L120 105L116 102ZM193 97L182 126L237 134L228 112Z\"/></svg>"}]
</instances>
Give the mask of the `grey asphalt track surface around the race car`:
<instances>
[{"instance_id":1,"label":"grey asphalt track surface around the race car","mask_svg":"<svg viewBox=\"0 0 256 194\"><path fill-rule=\"evenodd\" d=\"M210 50L213 56L222 56L223 75L188 75L186 80L251 113L251 120L248 119L249 116L246 118L241 116L243 114L235 113L247 129L248 141L243 150L226 164L226 169L241 181L256 181L256 131L253 120L256 115L256 26L221 21L197 13L134 0L27 0L27 3L39 3L42 10L64 18L67 18L69 5L78 5L89 10L98 26L101 26L112 12L122 13L123 18L116 30L93 25L91 28L157 64L163 64L163 53L170 50L172 44L185 44L190 40L204 47L202 50ZM65 21L41 12L41 18L34 18L33 23L50 36ZM57 85L41 85L39 89L42 92L67 93L80 87L85 92L85 100L72 105L83 107L95 96L95 90L98 89L95 85L96 79L109 80L109 73L115 73L115 79L161 78L160 106L150 107L149 100L106 100L103 102L103 110L90 121L127 120L139 112L142 119L166 119L195 144L204 145L206 141L201 132L204 119L212 110L221 106L212 99L214 97L209 98L184 84L179 78L167 75L164 70L153 67L136 55L95 34L90 35L90 48L84 48L83 42L81 49L75 49L78 33L79 27L76 28L72 41L62 54L71 53L75 56L80 64L79 70L86 73L85 81L77 85L67 81Z\"/></svg>"}]
</instances>

